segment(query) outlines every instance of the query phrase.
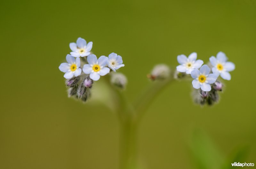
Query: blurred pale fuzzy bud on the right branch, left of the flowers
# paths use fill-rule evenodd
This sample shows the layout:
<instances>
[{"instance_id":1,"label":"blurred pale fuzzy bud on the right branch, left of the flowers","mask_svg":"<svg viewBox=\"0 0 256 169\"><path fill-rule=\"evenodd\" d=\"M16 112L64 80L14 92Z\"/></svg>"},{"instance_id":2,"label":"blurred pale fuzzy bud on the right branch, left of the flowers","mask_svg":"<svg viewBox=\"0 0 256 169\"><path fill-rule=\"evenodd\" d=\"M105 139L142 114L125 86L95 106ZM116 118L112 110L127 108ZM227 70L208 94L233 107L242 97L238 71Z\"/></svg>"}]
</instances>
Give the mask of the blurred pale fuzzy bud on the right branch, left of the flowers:
<instances>
[{"instance_id":1,"label":"blurred pale fuzzy bud on the right branch, left of the flowers","mask_svg":"<svg viewBox=\"0 0 256 169\"><path fill-rule=\"evenodd\" d=\"M170 74L171 70L167 65L159 64L153 68L151 74L148 74L147 77L151 80L167 79L170 77Z\"/></svg>"}]
</instances>

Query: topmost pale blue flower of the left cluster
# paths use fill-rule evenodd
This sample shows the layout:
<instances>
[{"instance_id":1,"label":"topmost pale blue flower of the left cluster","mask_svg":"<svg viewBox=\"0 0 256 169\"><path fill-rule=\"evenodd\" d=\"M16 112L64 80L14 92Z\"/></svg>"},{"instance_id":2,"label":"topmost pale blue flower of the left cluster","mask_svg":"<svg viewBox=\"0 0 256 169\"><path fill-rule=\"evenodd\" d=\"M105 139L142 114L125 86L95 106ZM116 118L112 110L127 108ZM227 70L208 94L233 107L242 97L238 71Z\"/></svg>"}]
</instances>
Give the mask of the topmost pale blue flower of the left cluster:
<instances>
[{"instance_id":1,"label":"topmost pale blue flower of the left cluster","mask_svg":"<svg viewBox=\"0 0 256 169\"><path fill-rule=\"evenodd\" d=\"M86 40L83 38L78 38L76 40L76 43L72 42L69 44L70 49L73 52L70 52L70 54L74 57L84 57L88 56L90 54L90 51L92 50L92 42L86 43Z\"/></svg>"}]
</instances>

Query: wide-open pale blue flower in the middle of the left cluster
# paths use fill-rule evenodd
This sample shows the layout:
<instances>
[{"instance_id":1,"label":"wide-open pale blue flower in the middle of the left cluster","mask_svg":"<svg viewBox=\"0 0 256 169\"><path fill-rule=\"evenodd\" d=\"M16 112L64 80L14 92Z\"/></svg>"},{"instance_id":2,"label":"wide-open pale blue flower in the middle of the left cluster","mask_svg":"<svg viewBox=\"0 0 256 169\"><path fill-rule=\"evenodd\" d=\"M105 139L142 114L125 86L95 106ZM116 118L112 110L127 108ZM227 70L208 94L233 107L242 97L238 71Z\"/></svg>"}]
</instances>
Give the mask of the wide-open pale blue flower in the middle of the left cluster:
<instances>
[{"instance_id":1,"label":"wide-open pale blue flower in the middle of the left cluster","mask_svg":"<svg viewBox=\"0 0 256 169\"><path fill-rule=\"evenodd\" d=\"M83 72L85 74L90 74L90 78L94 81L100 79L100 76L104 76L109 73L110 69L105 67L108 63L108 58L106 56L100 56L97 59L96 55L90 54L87 57L89 64L85 64Z\"/></svg>"}]
</instances>

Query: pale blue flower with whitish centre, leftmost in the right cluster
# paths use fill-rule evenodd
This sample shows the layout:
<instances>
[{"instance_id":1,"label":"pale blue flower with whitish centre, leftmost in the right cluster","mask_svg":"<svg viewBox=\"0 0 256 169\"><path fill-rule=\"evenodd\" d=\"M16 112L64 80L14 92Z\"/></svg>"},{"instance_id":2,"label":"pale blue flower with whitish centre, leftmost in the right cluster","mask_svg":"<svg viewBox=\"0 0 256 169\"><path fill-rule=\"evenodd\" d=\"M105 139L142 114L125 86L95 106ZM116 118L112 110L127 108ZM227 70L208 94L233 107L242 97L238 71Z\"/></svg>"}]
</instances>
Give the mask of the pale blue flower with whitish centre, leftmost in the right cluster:
<instances>
[{"instance_id":1,"label":"pale blue flower with whitish centre, leftmost in the right cluster","mask_svg":"<svg viewBox=\"0 0 256 169\"><path fill-rule=\"evenodd\" d=\"M179 72L186 72L186 74L191 74L194 69L199 69L203 65L203 60L196 60L197 54L195 52L191 53L188 58L184 54L177 57L179 66L176 67Z\"/></svg>"}]
</instances>

